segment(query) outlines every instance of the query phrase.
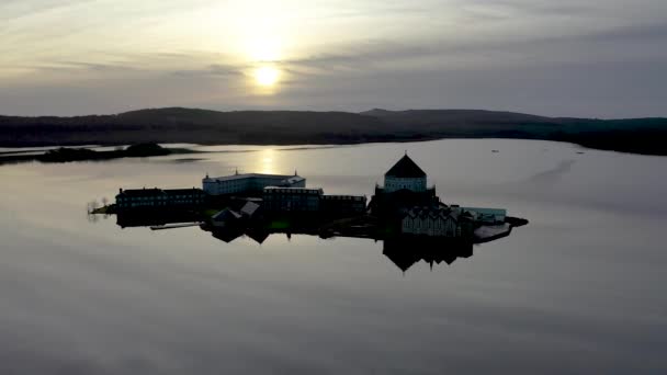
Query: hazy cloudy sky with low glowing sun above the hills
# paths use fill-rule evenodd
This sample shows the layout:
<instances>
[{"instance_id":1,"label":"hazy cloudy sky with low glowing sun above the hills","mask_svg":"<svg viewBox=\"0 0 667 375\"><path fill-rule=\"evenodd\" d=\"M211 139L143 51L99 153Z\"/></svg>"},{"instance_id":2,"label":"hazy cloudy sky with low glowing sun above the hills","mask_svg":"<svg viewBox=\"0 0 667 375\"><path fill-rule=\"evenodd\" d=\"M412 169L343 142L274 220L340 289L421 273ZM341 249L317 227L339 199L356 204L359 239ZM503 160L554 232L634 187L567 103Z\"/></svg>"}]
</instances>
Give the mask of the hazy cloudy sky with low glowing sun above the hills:
<instances>
[{"instance_id":1,"label":"hazy cloudy sky with low glowing sun above the hills","mask_svg":"<svg viewBox=\"0 0 667 375\"><path fill-rule=\"evenodd\" d=\"M667 116L665 0L2 0L0 114Z\"/></svg>"}]
</instances>

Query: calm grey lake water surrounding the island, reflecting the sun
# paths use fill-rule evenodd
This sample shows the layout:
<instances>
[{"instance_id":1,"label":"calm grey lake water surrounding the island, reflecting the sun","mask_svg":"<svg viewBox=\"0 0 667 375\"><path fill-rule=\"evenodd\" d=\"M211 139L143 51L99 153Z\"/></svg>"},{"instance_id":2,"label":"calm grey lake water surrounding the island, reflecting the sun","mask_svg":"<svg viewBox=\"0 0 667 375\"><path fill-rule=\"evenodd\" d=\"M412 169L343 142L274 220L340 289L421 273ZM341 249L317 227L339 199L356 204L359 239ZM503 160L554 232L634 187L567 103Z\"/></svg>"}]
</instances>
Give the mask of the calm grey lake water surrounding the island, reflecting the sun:
<instances>
[{"instance_id":1,"label":"calm grey lake water surrounding the island, reflecting the sun","mask_svg":"<svg viewBox=\"0 0 667 375\"><path fill-rule=\"evenodd\" d=\"M0 167L0 374L667 372L667 158L498 139L201 149L229 152ZM371 240L225 243L84 212L235 168L370 196L406 149L444 202L530 225L403 273Z\"/></svg>"}]
</instances>

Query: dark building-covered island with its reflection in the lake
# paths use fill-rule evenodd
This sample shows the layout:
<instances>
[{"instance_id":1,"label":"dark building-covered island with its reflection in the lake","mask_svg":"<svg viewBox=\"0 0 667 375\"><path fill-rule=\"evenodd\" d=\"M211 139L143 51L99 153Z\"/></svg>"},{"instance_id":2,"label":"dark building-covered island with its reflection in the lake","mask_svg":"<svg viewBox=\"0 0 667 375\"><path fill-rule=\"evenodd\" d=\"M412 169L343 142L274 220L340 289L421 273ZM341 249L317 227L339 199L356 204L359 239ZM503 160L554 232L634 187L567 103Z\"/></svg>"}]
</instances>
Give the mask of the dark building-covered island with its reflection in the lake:
<instances>
[{"instance_id":1,"label":"dark building-covered island with its reflection in the lake","mask_svg":"<svg viewBox=\"0 0 667 375\"><path fill-rule=\"evenodd\" d=\"M404 265L420 259L451 263L472 254L473 245L507 237L528 224L508 216L505 208L441 202L407 152L385 173L384 185L375 186L370 201L364 195L325 194L323 188L307 186L296 171L237 171L205 175L201 189L120 189L114 204L91 214L116 215L122 228L199 226L225 242L247 236L261 243L274 234L368 238L384 241L385 254Z\"/></svg>"}]
</instances>

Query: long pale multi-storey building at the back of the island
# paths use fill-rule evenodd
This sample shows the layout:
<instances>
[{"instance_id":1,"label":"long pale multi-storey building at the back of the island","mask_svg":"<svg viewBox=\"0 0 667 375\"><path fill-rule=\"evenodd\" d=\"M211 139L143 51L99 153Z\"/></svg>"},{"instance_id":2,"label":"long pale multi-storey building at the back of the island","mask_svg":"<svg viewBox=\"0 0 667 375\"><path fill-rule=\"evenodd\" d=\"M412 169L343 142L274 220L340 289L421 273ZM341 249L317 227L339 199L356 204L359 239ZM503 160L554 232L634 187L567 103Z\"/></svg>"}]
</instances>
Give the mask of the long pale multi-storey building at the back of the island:
<instances>
[{"instance_id":1,"label":"long pale multi-storey building at the back of the island","mask_svg":"<svg viewBox=\"0 0 667 375\"><path fill-rule=\"evenodd\" d=\"M267 186L306 188L306 179L294 172L294 175L242 173L202 180L204 192L210 195L227 195L245 192L261 192Z\"/></svg>"}]
</instances>

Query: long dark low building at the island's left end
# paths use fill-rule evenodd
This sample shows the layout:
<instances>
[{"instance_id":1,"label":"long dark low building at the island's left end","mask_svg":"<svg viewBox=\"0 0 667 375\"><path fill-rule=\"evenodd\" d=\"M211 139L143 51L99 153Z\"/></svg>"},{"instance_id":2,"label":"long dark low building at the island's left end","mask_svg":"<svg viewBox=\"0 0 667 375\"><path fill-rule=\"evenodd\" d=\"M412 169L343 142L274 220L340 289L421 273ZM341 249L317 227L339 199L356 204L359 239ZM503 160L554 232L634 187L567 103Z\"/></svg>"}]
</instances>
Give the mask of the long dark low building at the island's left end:
<instances>
[{"instance_id":1,"label":"long dark low building at the island's left end","mask_svg":"<svg viewBox=\"0 0 667 375\"><path fill-rule=\"evenodd\" d=\"M116 195L118 211L136 208L191 208L200 207L206 202L206 194L201 189L121 189Z\"/></svg>"}]
</instances>

